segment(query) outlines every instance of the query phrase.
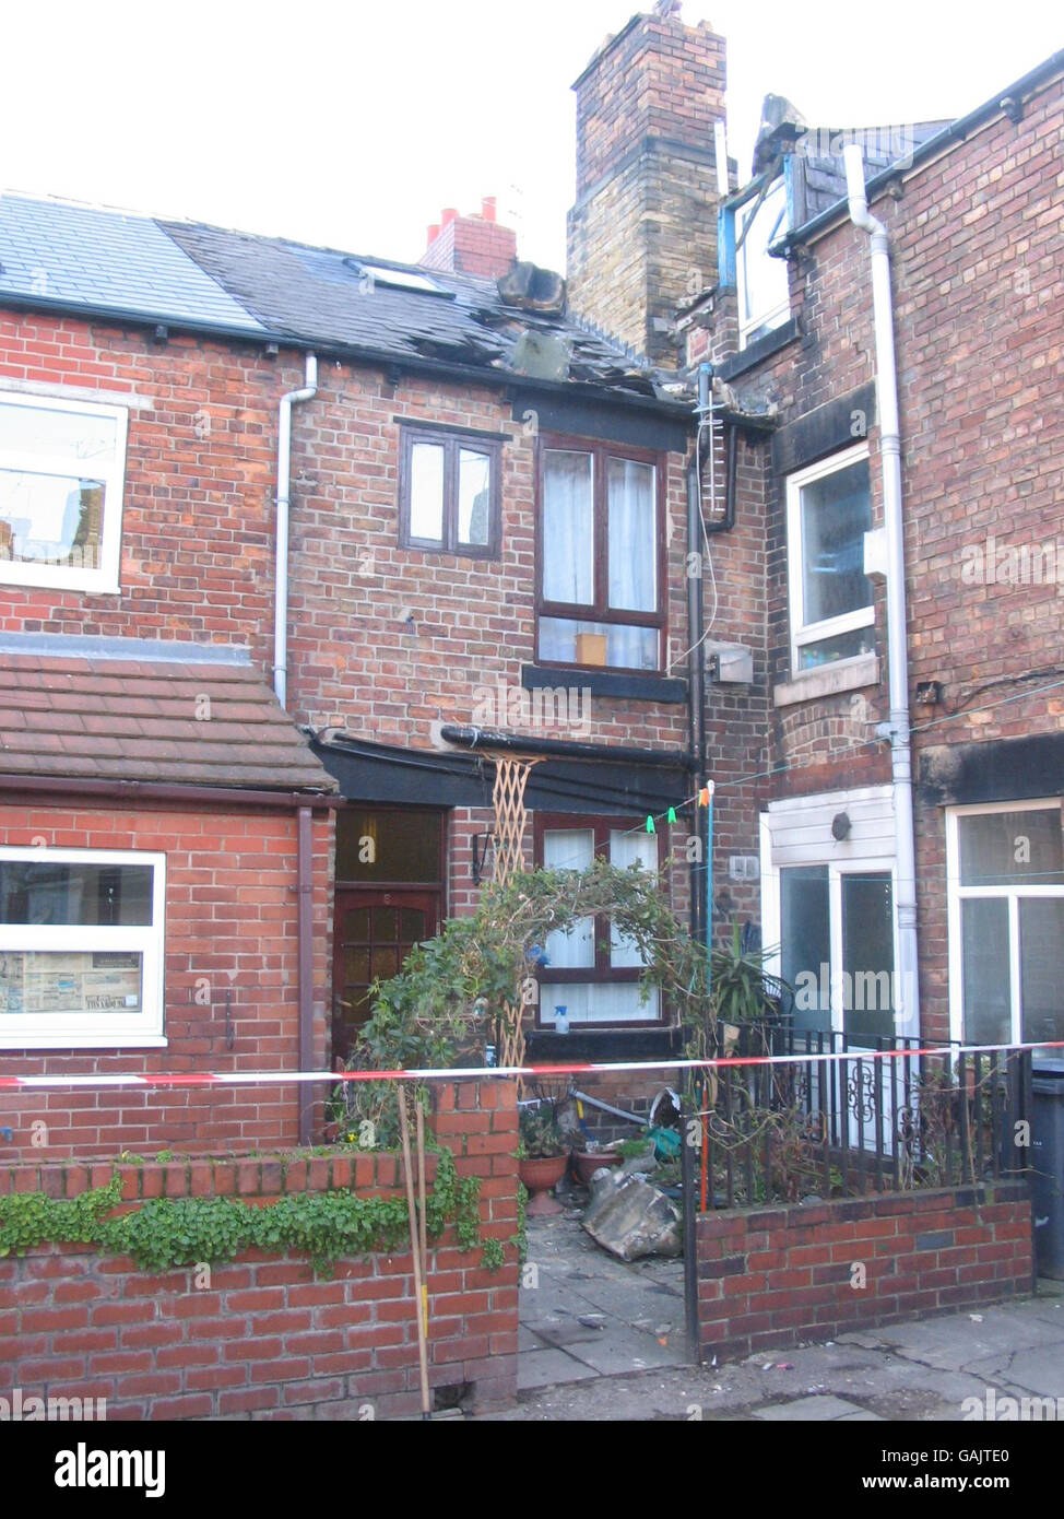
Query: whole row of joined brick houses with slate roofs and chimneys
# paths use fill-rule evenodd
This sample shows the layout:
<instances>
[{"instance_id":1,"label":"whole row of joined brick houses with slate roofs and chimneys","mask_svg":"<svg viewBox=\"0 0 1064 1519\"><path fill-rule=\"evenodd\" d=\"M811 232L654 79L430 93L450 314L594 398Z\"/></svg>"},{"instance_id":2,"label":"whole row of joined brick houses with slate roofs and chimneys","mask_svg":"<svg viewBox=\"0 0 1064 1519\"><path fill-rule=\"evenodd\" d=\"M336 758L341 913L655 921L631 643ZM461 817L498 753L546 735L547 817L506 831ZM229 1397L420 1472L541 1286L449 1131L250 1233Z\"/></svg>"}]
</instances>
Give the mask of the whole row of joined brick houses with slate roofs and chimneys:
<instances>
[{"instance_id":1,"label":"whole row of joined brick houses with slate roofs and chimneys","mask_svg":"<svg viewBox=\"0 0 1064 1519\"><path fill-rule=\"evenodd\" d=\"M724 39L634 15L568 292L492 202L399 264L5 196L5 1068L345 1057L499 870L499 778L525 864L780 945L798 1031L1061 1037L1061 64L953 123L773 97L745 181ZM678 1047L607 922L546 951L533 1059ZM294 1088L5 1110L314 1132Z\"/></svg>"}]
</instances>

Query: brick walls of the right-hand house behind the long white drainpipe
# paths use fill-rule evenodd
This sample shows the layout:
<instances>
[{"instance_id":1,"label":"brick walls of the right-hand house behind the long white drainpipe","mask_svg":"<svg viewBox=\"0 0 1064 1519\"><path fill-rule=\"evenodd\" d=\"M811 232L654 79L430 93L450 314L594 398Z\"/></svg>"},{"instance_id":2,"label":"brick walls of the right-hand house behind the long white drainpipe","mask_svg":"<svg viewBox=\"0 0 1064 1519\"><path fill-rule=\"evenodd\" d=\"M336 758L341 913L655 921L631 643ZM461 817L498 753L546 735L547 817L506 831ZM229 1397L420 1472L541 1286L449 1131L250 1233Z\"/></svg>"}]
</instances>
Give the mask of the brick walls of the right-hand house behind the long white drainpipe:
<instances>
[{"instance_id":1,"label":"brick walls of the right-hand house behind the long white drainpipe","mask_svg":"<svg viewBox=\"0 0 1064 1519\"><path fill-rule=\"evenodd\" d=\"M917 166L899 199L882 194L873 205L891 237L909 691L921 681L946 688L944 706L912 706L917 729L937 725L914 737L917 770L929 750L947 763L955 744L1055 732L1064 715L1059 690L1034 694L1031 688L1044 682L1025 679L1059 664L1064 635L1064 415L1056 396L1064 317L1061 94L1059 79L1040 87L1018 123L990 120L933 163ZM774 403L780 425L874 380L865 234L842 216L789 269L800 339L732 380L754 409ZM735 351L733 295L718 293L715 308L697 321L710 327L709 355ZM691 328L692 355L701 355L703 342L704 328ZM762 532L747 545L745 570L736 565L736 573L765 595L770 706L759 769L774 772L760 782L757 801L888 782L888 746L874 738L888 715L882 589L876 591L880 685L771 706L773 688L789 679L785 498L770 447L747 457L753 477L741 471L736 532L748 523L760 523ZM877 425L870 428L870 466L873 526L879 526ZM964 550L985 545L990 535L1015 548L1056 544L1056 583L965 583ZM718 564L730 536L716 541ZM757 636L757 627L753 617L747 636ZM1006 697L1006 705L979 711ZM944 1037L946 848L937 807L917 805L917 880L921 1021L929 1037Z\"/></svg>"}]
</instances>

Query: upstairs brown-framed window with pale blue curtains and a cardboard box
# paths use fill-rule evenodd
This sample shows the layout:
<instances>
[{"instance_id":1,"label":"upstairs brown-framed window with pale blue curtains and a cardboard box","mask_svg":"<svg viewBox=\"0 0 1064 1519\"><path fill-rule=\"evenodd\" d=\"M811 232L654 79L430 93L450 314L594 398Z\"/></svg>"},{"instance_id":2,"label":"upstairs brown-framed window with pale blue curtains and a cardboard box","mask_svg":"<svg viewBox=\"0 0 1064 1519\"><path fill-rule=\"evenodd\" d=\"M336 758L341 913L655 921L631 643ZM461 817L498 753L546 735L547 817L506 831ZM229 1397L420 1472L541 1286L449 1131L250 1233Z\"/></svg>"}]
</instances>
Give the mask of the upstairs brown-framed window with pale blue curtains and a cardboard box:
<instances>
[{"instance_id":1,"label":"upstairs brown-framed window with pale blue curtains and a cardboard box","mask_svg":"<svg viewBox=\"0 0 1064 1519\"><path fill-rule=\"evenodd\" d=\"M540 439L540 664L660 670L660 474L656 454Z\"/></svg>"}]
</instances>

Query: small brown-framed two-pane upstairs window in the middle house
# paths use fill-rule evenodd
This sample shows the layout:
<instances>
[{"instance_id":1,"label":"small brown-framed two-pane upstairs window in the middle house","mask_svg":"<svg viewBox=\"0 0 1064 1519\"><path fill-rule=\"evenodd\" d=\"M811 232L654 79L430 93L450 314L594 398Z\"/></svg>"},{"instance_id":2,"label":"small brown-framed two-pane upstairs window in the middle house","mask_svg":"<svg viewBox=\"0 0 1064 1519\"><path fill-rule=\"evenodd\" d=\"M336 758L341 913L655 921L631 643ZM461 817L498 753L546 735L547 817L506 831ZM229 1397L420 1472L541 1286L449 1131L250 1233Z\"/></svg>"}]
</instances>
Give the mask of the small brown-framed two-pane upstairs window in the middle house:
<instances>
[{"instance_id":1,"label":"small brown-framed two-pane upstairs window in the middle house","mask_svg":"<svg viewBox=\"0 0 1064 1519\"><path fill-rule=\"evenodd\" d=\"M496 559L501 542L501 444L475 433L404 427L399 542Z\"/></svg>"}]
</instances>

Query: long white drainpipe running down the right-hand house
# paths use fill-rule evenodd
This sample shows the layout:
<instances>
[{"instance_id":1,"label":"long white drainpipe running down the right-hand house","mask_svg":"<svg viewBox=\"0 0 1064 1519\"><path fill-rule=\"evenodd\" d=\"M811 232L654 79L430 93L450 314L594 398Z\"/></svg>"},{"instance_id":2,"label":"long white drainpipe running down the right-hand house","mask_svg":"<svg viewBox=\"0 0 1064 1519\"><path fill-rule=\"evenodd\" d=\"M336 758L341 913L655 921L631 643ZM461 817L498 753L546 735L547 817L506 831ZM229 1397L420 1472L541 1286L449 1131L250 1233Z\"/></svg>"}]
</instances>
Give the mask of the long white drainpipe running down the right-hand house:
<instances>
[{"instance_id":1,"label":"long white drainpipe running down the right-hand house","mask_svg":"<svg viewBox=\"0 0 1064 1519\"><path fill-rule=\"evenodd\" d=\"M886 539L886 665L889 676L889 722L877 732L891 741L894 781L894 849L897 881L899 966L897 1031L920 1034L920 981L917 958L917 852L912 828L912 752L909 743L909 667L905 615L905 538L902 532L902 428L897 406L894 358L894 302L891 296L891 245L886 228L868 211L861 147L844 150L850 220L871 240L871 301L876 328L876 403L879 453L883 469L883 530Z\"/></svg>"}]
</instances>

